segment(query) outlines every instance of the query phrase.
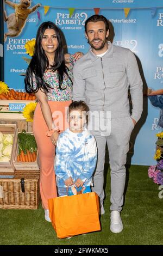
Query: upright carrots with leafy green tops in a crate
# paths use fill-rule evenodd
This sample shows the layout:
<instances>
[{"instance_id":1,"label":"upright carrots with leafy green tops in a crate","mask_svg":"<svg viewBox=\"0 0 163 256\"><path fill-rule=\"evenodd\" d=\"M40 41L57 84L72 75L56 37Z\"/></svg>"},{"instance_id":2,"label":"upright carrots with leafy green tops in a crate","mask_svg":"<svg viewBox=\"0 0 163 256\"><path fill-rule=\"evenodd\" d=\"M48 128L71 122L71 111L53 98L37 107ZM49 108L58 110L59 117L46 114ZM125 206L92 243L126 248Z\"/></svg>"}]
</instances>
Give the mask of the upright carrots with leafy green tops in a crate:
<instances>
[{"instance_id":1,"label":"upright carrots with leafy green tops in a crate","mask_svg":"<svg viewBox=\"0 0 163 256\"><path fill-rule=\"evenodd\" d=\"M25 130L18 133L17 162L35 162L37 156L37 144L34 135Z\"/></svg>"}]
</instances>

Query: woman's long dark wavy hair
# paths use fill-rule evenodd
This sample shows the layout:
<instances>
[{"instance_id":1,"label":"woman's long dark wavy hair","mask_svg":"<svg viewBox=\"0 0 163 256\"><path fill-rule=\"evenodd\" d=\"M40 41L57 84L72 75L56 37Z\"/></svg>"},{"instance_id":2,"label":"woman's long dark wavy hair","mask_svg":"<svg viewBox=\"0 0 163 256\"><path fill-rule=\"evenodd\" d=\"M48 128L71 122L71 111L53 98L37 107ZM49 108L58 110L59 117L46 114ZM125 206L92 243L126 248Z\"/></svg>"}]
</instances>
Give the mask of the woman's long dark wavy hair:
<instances>
[{"instance_id":1,"label":"woman's long dark wavy hair","mask_svg":"<svg viewBox=\"0 0 163 256\"><path fill-rule=\"evenodd\" d=\"M43 80L43 74L48 69L49 62L45 54L45 51L41 46L41 41L43 38L43 34L45 33L45 30L47 28L54 29L55 34L57 35L57 40L58 40L58 47L57 47L57 50L55 51L55 57L54 57L54 65L51 67L51 70L53 72L57 70L58 72L59 89L60 90L66 89L66 88L64 89L61 88L64 74L66 74L71 81L71 78L68 75L68 68L65 65L64 47L62 45L60 29L51 21L43 22L40 25L39 29L37 30L34 56L30 61L30 64L26 71L26 78L24 79L25 89L28 93L31 93L31 92L36 93L38 92L39 89L47 93L49 91L49 88L52 88L49 84L47 84ZM34 87L34 84L33 84L33 76L35 77L35 80L36 80L36 84L37 84L36 88Z\"/></svg>"}]
</instances>

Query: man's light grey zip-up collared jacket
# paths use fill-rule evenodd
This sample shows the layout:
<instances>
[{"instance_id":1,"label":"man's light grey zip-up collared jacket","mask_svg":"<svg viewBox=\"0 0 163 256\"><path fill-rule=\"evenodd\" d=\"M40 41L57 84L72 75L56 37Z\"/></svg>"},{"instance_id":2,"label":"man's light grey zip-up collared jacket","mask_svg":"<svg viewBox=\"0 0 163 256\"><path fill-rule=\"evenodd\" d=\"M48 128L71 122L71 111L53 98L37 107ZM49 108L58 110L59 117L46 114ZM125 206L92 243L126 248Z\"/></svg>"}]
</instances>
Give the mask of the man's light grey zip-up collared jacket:
<instances>
[{"instance_id":1,"label":"man's light grey zip-up collared jacket","mask_svg":"<svg viewBox=\"0 0 163 256\"><path fill-rule=\"evenodd\" d=\"M83 100L90 111L111 111L111 118L128 117L128 88L132 100L131 117L142 113L142 80L136 58L129 49L108 44L101 58L91 51L73 68L73 101Z\"/></svg>"}]
</instances>

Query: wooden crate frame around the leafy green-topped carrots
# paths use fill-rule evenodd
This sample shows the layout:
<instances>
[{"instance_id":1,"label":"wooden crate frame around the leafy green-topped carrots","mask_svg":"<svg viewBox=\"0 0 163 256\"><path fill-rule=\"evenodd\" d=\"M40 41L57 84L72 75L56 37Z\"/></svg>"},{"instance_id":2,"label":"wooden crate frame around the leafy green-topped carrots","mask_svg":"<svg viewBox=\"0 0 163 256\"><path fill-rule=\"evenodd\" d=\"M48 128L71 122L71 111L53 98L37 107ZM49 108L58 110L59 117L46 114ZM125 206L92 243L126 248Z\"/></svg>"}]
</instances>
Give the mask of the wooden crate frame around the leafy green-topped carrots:
<instances>
[{"instance_id":1,"label":"wooden crate frame around the leafy green-topped carrots","mask_svg":"<svg viewBox=\"0 0 163 256\"><path fill-rule=\"evenodd\" d=\"M32 132L27 132L33 134ZM18 139L16 140L16 150L14 154L13 164L15 170L40 170L40 160L39 154L37 150L37 158L35 162L17 162L17 155L18 155Z\"/></svg>"}]
</instances>

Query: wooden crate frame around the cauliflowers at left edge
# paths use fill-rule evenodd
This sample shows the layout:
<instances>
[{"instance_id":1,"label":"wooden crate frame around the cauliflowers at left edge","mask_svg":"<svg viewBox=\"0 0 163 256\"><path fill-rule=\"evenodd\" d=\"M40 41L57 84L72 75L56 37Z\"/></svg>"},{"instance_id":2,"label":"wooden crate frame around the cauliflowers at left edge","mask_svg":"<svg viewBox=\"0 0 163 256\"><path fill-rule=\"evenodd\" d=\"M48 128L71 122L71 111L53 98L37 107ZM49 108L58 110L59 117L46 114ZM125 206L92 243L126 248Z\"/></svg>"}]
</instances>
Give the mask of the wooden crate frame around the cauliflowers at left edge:
<instances>
[{"instance_id":1,"label":"wooden crate frame around the cauliflowers at left edge","mask_svg":"<svg viewBox=\"0 0 163 256\"><path fill-rule=\"evenodd\" d=\"M18 133L17 125L16 124L0 124L0 131L3 134L10 133L14 135L14 142L12 145L10 162L0 162L0 172L13 173L15 169L13 160L15 156L16 142L17 142L17 133Z\"/></svg>"}]
</instances>

